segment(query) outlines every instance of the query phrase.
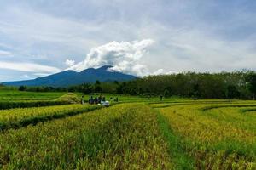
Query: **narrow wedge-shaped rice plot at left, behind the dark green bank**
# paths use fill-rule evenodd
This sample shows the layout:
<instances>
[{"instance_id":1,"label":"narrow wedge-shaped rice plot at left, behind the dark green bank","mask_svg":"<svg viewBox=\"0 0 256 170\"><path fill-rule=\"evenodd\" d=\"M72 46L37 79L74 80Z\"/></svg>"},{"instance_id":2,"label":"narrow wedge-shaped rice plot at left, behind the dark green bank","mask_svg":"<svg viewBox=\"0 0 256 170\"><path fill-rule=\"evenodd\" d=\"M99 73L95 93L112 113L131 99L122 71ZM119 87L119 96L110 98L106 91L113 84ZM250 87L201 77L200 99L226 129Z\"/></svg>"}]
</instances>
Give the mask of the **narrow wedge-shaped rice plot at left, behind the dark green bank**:
<instances>
[{"instance_id":1,"label":"narrow wedge-shaped rice plot at left, behind the dark green bank","mask_svg":"<svg viewBox=\"0 0 256 170\"><path fill-rule=\"evenodd\" d=\"M93 111L101 105L57 105L0 111L0 131Z\"/></svg>"}]
</instances>

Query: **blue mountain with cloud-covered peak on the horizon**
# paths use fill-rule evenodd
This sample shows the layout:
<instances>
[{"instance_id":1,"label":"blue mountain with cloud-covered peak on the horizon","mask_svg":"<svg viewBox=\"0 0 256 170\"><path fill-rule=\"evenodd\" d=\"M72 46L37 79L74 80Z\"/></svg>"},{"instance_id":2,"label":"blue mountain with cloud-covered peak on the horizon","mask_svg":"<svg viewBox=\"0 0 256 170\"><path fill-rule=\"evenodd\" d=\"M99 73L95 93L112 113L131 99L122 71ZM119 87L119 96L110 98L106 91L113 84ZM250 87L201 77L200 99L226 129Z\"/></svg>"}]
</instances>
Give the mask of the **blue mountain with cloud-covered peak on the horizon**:
<instances>
[{"instance_id":1,"label":"blue mountain with cloud-covered peak on the horizon","mask_svg":"<svg viewBox=\"0 0 256 170\"><path fill-rule=\"evenodd\" d=\"M116 71L108 71L111 65L105 65L98 69L90 68L81 72L62 71L47 77L38 77L33 80L2 82L8 86L52 86L52 87L67 87L77 85L84 82L112 82L112 81L128 81L137 77L124 74Z\"/></svg>"}]
</instances>

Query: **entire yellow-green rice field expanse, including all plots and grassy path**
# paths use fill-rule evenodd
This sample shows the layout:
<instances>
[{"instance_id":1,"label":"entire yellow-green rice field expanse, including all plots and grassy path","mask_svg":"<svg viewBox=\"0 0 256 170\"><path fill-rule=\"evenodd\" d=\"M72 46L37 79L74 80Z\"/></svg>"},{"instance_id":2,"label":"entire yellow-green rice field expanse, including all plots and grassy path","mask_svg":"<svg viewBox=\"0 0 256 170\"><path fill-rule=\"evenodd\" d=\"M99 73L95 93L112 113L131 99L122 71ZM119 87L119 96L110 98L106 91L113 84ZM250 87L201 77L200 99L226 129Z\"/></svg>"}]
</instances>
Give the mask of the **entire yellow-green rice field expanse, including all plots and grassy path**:
<instances>
[{"instance_id":1,"label":"entire yellow-green rice field expanse, including all plots and grassy path","mask_svg":"<svg viewBox=\"0 0 256 170\"><path fill-rule=\"evenodd\" d=\"M256 102L119 99L0 110L0 169L256 169Z\"/></svg>"}]
</instances>

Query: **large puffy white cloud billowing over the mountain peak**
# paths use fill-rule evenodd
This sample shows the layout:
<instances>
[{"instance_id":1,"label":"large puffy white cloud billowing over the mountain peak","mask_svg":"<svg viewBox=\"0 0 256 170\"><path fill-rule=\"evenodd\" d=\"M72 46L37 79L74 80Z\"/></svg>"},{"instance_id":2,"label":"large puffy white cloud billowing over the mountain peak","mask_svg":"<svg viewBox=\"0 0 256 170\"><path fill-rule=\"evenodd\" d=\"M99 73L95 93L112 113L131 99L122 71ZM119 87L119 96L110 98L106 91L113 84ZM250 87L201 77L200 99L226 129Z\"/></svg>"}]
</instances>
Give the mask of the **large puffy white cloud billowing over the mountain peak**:
<instances>
[{"instance_id":1,"label":"large puffy white cloud billowing over the mountain peak","mask_svg":"<svg viewBox=\"0 0 256 170\"><path fill-rule=\"evenodd\" d=\"M133 42L109 42L105 45L91 48L84 61L68 69L83 71L86 68L113 65L110 71L144 76L148 74L148 68L139 62L147 52L148 46L153 42L152 39Z\"/></svg>"}]
</instances>

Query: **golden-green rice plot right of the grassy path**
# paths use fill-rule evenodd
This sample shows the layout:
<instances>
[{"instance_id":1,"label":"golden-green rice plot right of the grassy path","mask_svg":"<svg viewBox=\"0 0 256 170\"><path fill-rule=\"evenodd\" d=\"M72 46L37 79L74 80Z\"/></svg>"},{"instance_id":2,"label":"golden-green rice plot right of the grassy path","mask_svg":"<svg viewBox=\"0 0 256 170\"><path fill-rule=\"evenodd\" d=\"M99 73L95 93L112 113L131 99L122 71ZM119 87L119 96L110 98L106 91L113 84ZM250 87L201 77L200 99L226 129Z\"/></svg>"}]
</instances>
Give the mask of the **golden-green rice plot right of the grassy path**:
<instances>
[{"instance_id":1,"label":"golden-green rice plot right of the grassy path","mask_svg":"<svg viewBox=\"0 0 256 170\"><path fill-rule=\"evenodd\" d=\"M255 169L256 115L242 112L254 105L241 103L159 107L158 111L172 129L167 139L171 155L174 150L173 159L177 156L183 159L179 154L185 150L187 156L194 158L197 169ZM180 140L178 144L175 143L177 139ZM175 151L177 147L181 149Z\"/></svg>"}]
</instances>

